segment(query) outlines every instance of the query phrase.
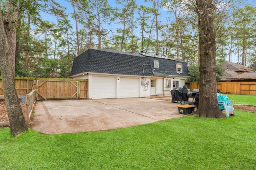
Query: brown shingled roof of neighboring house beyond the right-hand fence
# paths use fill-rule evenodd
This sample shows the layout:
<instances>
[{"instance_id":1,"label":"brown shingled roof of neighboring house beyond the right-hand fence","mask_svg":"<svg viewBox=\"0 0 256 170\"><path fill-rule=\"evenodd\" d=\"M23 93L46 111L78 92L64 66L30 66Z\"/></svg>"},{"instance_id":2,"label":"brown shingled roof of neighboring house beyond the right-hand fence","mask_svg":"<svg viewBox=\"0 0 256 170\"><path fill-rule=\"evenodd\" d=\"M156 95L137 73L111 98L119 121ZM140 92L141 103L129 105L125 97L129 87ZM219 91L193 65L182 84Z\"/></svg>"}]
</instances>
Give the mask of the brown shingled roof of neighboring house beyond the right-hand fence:
<instances>
[{"instance_id":1,"label":"brown shingled roof of neighboring house beyond the right-hand fence","mask_svg":"<svg viewBox=\"0 0 256 170\"><path fill-rule=\"evenodd\" d=\"M221 77L221 81L256 79L256 72L241 64L224 61L222 62L222 68L225 71Z\"/></svg>"}]
</instances>

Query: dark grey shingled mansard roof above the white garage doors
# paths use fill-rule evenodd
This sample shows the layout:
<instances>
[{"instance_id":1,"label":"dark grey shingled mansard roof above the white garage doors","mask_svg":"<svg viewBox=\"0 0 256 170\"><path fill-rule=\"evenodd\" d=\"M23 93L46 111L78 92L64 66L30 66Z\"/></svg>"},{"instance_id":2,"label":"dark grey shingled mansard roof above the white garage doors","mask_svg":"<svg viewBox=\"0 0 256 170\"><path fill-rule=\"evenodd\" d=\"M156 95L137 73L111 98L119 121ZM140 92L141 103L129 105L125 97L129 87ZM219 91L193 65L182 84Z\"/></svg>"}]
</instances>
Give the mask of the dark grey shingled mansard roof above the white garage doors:
<instances>
[{"instance_id":1,"label":"dark grey shingled mansard roof above the white garage doors","mask_svg":"<svg viewBox=\"0 0 256 170\"><path fill-rule=\"evenodd\" d=\"M154 60L159 61L159 68L154 68ZM182 73L176 72L176 63L182 64ZM83 72L136 76L190 76L186 62L114 49L88 49L76 57L70 76Z\"/></svg>"}]
</instances>

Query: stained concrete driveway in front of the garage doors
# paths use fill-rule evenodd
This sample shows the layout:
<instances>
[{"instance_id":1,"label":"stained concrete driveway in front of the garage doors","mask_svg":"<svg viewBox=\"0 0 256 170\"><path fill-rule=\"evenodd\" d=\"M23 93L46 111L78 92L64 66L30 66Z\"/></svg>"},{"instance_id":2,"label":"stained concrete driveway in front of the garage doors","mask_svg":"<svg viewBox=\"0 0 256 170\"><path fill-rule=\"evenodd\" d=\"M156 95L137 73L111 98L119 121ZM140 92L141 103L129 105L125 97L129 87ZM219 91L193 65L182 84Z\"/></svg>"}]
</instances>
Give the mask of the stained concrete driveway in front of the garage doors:
<instances>
[{"instance_id":1,"label":"stained concrete driveway in front of the garage doors","mask_svg":"<svg viewBox=\"0 0 256 170\"><path fill-rule=\"evenodd\" d=\"M182 117L178 105L150 98L37 101L32 129L44 134L118 129Z\"/></svg>"}]
</instances>

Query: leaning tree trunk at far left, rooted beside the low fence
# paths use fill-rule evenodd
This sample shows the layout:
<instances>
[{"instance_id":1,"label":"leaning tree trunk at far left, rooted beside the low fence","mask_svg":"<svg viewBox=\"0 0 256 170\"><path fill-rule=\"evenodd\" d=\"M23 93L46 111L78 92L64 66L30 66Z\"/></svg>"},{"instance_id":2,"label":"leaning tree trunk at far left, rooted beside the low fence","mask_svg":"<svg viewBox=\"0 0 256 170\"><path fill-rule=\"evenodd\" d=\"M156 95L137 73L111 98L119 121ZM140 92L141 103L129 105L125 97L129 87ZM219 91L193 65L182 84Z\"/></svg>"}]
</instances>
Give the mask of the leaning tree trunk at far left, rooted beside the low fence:
<instances>
[{"instance_id":1,"label":"leaning tree trunk at far left, rooted beside the low fence","mask_svg":"<svg viewBox=\"0 0 256 170\"><path fill-rule=\"evenodd\" d=\"M3 78L4 100L8 111L11 134L15 137L21 132L28 131L28 127L15 90L15 81L12 69L12 53L4 30L4 21L1 11L0 35L0 71Z\"/></svg>"}]
</instances>

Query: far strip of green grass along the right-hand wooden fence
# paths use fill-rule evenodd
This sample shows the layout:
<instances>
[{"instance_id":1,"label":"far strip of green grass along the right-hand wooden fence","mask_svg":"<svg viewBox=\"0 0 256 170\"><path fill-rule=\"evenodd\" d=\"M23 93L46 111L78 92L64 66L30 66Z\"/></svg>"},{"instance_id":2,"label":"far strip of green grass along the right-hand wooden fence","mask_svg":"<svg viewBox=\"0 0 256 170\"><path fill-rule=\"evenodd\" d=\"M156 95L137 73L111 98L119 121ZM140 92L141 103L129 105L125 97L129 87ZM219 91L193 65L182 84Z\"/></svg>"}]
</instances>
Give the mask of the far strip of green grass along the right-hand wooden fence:
<instances>
[{"instance_id":1,"label":"far strip of green grass along the right-hand wooden fence","mask_svg":"<svg viewBox=\"0 0 256 170\"><path fill-rule=\"evenodd\" d=\"M228 94L227 96L234 100L234 104L256 105L256 95Z\"/></svg>"}]
</instances>

